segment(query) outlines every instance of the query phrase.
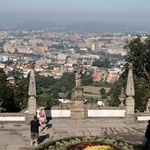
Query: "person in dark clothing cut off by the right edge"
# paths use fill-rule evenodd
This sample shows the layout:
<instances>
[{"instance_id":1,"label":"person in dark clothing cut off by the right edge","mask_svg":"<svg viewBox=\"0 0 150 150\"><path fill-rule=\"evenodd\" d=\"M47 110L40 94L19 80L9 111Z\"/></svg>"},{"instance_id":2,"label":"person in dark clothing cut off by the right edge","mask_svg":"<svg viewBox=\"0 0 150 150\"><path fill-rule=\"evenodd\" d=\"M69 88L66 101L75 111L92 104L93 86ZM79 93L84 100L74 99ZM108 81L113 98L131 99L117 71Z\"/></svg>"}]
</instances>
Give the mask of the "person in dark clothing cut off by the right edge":
<instances>
[{"instance_id":1,"label":"person in dark clothing cut off by the right edge","mask_svg":"<svg viewBox=\"0 0 150 150\"><path fill-rule=\"evenodd\" d=\"M148 120L148 125L147 125L146 131L145 131L145 137L147 138L147 141L145 144L145 149L150 150L150 120Z\"/></svg>"}]
</instances>

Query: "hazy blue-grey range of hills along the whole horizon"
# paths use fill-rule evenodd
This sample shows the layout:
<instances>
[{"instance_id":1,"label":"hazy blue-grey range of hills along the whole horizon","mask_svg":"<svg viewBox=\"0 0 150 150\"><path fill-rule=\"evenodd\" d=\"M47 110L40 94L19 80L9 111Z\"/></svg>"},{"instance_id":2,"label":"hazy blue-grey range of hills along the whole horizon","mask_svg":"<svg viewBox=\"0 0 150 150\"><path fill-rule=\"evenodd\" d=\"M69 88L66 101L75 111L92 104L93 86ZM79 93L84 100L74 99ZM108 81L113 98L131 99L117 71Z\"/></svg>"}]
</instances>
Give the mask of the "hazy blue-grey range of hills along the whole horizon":
<instances>
[{"instance_id":1,"label":"hazy blue-grey range of hills along the whole horizon","mask_svg":"<svg viewBox=\"0 0 150 150\"><path fill-rule=\"evenodd\" d=\"M61 30L61 31L83 31L83 32L126 32L135 33L137 31L150 32L149 26L140 26L138 24L131 25L130 23L106 23L98 21L75 22L71 24L61 25L49 21L30 20L23 22L22 18L15 18L0 13L0 27L2 26L15 26L15 29L29 29L29 30Z\"/></svg>"}]
</instances>

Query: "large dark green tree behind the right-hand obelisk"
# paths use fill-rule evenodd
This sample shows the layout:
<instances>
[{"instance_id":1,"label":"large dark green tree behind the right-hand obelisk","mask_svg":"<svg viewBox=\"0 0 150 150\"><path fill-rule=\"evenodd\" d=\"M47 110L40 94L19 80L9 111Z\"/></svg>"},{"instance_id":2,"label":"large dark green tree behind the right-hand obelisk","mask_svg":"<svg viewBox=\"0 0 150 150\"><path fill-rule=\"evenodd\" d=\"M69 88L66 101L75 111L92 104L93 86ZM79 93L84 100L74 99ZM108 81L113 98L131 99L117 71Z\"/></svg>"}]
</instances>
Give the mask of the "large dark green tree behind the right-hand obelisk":
<instances>
[{"instance_id":1,"label":"large dark green tree behind the right-hand obelisk","mask_svg":"<svg viewBox=\"0 0 150 150\"><path fill-rule=\"evenodd\" d=\"M138 36L128 42L125 49L127 50L125 60L133 65L135 109L145 109L150 97L150 36L148 35L144 40ZM128 64L125 65L121 76L123 80L126 80L127 73Z\"/></svg>"}]
</instances>

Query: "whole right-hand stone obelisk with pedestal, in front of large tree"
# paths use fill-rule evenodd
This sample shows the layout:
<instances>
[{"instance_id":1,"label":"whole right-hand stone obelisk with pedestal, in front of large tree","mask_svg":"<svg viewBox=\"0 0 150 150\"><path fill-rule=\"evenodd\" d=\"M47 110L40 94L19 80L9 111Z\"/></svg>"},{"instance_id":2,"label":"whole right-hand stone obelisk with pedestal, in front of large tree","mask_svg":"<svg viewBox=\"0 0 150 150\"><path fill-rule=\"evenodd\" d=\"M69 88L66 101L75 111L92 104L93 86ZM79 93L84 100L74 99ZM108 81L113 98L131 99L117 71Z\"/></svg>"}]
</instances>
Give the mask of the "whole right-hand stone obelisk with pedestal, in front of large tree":
<instances>
[{"instance_id":1,"label":"whole right-hand stone obelisk with pedestal, in front of large tree","mask_svg":"<svg viewBox=\"0 0 150 150\"><path fill-rule=\"evenodd\" d=\"M136 117L134 113L135 109L135 101L133 96L135 95L134 91L134 81L133 81L133 72L132 72L132 64L129 64L129 72L127 78L127 86L126 86L126 113L125 113L125 123L135 123Z\"/></svg>"}]
</instances>

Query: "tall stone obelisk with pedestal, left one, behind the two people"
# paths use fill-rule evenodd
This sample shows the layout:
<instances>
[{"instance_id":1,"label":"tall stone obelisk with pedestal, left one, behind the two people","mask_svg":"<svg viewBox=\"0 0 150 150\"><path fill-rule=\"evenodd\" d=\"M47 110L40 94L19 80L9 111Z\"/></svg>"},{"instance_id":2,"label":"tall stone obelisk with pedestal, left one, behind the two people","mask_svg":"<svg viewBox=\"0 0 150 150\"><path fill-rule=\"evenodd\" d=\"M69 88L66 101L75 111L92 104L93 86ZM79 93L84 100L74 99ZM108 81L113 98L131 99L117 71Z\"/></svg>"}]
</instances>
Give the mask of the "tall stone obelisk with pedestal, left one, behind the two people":
<instances>
[{"instance_id":1,"label":"tall stone obelisk with pedestal, left one, behind the two people","mask_svg":"<svg viewBox=\"0 0 150 150\"><path fill-rule=\"evenodd\" d=\"M26 116L27 122L36 115L36 84L35 84L35 75L34 75L34 64L31 66L30 72L30 81L29 81L29 89L28 89L28 115Z\"/></svg>"}]
</instances>

